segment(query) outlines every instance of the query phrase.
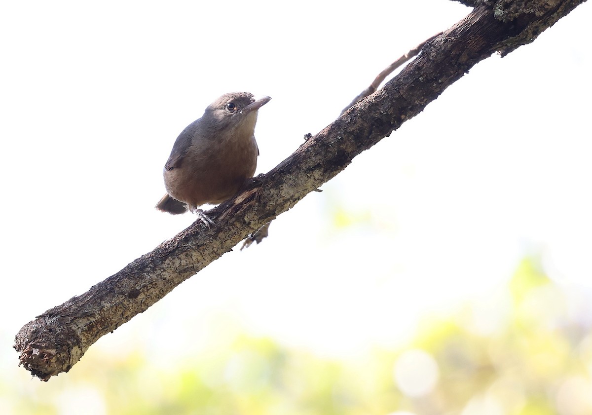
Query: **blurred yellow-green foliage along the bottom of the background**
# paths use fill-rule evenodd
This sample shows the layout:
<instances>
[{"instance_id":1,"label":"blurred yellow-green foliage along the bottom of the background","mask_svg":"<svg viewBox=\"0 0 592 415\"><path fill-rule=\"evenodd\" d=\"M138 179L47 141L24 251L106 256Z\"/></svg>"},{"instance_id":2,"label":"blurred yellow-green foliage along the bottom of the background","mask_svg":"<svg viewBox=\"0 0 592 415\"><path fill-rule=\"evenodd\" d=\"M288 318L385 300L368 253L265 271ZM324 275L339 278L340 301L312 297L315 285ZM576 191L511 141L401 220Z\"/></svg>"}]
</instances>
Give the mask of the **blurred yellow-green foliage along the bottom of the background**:
<instances>
[{"instance_id":1,"label":"blurred yellow-green foliage along the bottom of the background","mask_svg":"<svg viewBox=\"0 0 592 415\"><path fill-rule=\"evenodd\" d=\"M592 336L585 304L527 258L506 287L449 314L426 316L413 339L397 349L375 346L357 358L327 359L240 333L227 346L171 359L175 363L164 367L140 347L117 356L89 353L85 370L60 375L67 383L40 384L34 394L30 385L2 380L0 410L19 415L590 414Z\"/></svg>"}]
</instances>

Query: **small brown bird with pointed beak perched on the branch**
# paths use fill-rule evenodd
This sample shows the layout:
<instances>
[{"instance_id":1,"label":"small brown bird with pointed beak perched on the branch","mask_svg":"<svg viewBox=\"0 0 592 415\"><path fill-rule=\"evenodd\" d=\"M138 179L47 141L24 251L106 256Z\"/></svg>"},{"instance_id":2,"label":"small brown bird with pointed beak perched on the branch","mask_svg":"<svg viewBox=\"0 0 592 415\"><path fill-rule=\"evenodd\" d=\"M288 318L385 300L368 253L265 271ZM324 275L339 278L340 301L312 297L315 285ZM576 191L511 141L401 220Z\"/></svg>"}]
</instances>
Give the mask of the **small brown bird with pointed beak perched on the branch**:
<instances>
[{"instance_id":1,"label":"small brown bird with pointed beak perched on the branch","mask_svg":"<svg viewBox=\"0 0 592 415\"><path fill-rule=\"evenodd\" d=\"M257 111L270 99L232 92L205 108L173 144L164 169L167 194L156 208L172 214L189 210L211 223L198 207L230 199L255 174Z\"/></svg>"}]
</instances>

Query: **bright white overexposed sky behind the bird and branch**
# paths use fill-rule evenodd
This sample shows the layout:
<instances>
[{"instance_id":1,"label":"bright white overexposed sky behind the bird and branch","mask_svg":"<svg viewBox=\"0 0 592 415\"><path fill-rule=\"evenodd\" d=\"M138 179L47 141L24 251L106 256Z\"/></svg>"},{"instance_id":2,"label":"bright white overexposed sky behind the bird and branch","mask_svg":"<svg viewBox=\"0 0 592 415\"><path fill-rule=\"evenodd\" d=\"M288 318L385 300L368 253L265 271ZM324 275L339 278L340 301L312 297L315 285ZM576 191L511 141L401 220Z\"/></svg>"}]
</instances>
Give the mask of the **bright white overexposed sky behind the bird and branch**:
<instances>
[{"instance_id":1,"label":"bright white overexposed sky behind the bird and branch","mask_svg":"<svg viewBox=\"0 0 592 415\"><path fill-rule=\"evenodd\" d=\"M218 95L272 97L256 129L267 172L468 11L447 0L4 2L3 349L191 224L153 206L173 141ZM170 355L186 327L198 349L236 319L287 345L355 352L499 287L525 255L590 289L591 20L587 2L480 63L263 244L224 255L96 347L150 342ZM336 211L360 222L336 229ZM174 345L157 341L170 333ZM16 361L5 355L4 373L27 377Z\"/></svg>"}]
</instances>

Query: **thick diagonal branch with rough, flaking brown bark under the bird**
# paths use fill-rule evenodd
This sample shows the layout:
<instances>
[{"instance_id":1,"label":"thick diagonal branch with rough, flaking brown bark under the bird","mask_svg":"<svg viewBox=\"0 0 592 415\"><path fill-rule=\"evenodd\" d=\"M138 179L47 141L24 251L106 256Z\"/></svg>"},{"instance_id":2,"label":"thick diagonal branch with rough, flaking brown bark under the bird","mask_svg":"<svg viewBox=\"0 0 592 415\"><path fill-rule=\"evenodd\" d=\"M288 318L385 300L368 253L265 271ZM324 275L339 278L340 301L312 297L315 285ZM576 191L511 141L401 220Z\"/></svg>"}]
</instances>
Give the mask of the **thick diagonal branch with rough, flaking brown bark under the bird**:
<instances>
[{"instance_id":1,"label":"thick diagonal branch with rough, flaking brown bark under the bird","mask_svg":"<svg viewBox=\"0 0 592 415\"><path fill-rule=\"evenodd\" d=\"M249 233L289 210L346 168L494 52L506 54L585 0L481 2L466 18L429 41L384 88L354 105L252 188L211 210L218 224L197 221L85 294L25 324L15 338L21 364L47 381L69 371L104 334L163 298L182 281L229 252Z\"/></svg>"}]
</instances>

